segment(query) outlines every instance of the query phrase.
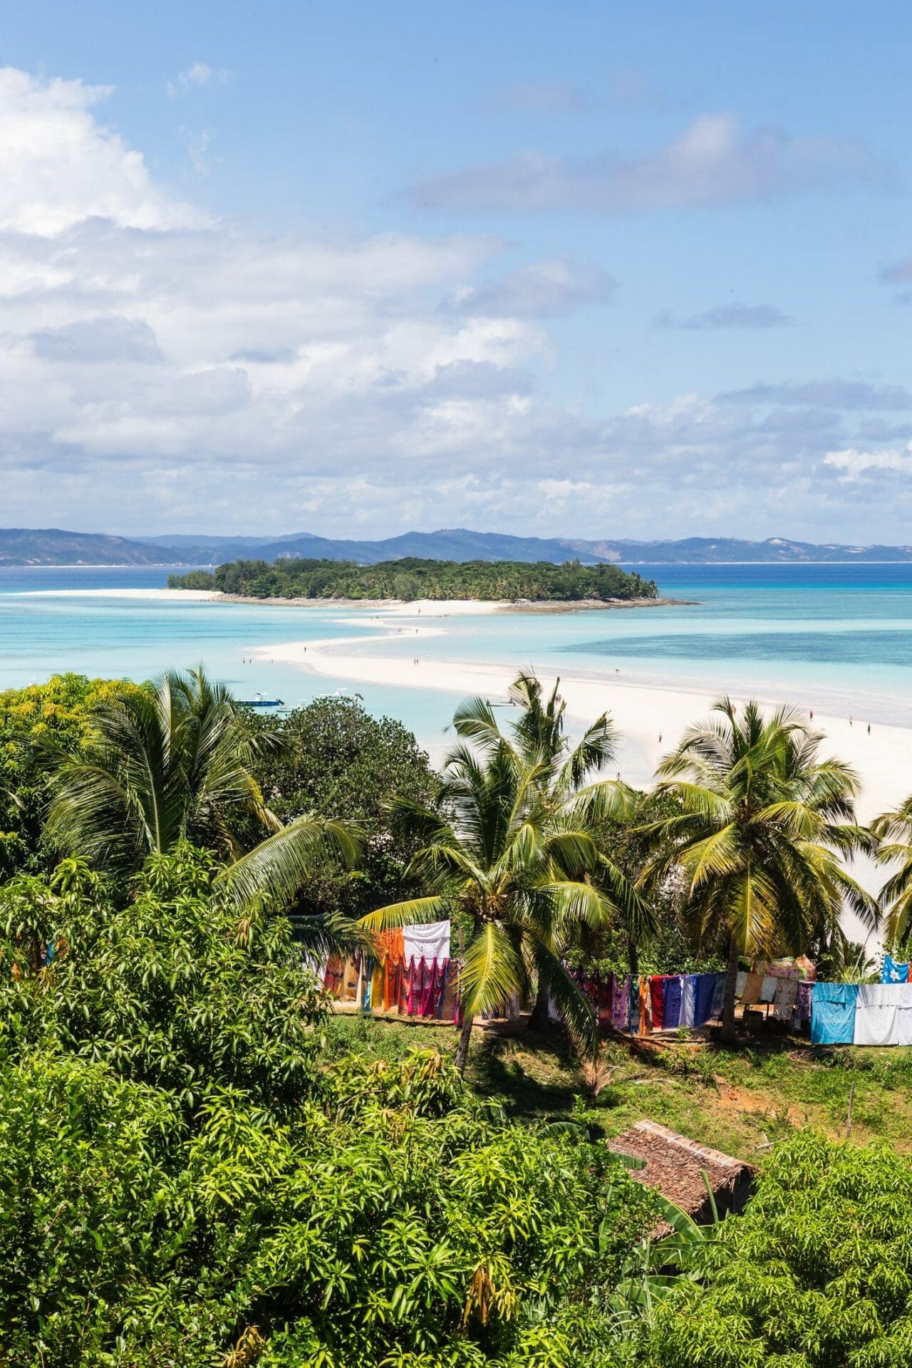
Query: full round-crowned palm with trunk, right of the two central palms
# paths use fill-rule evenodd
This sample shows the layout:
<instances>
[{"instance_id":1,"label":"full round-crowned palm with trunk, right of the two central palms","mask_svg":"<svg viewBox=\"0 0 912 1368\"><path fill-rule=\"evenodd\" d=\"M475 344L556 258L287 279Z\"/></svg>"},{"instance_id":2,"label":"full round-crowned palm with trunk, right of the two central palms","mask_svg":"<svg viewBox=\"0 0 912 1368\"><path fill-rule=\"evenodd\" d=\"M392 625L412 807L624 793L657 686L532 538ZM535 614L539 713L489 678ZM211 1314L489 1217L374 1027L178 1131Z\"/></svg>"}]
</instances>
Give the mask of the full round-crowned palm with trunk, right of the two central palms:
<instances>
[{"instance_id":1,"label":"full round-crowned palm with trunk, right of the two central palms","mask_svg":"<svg viewBox=\"0 0 912 1368\"><path fill-rule=\"evenodd\" d=\"M855 819L859 780L819 757L822 740L790 709L767 721L756 702L738 715L723 698L659 766L656 792L680 810L645 828L667 843L648 877L682 871L699 938L725 948L727 1041L740 955L803 953L820 934L840 941L846 903L878 925L876 902L842 863L875 844Z\"/></svg>"}]
</instances>

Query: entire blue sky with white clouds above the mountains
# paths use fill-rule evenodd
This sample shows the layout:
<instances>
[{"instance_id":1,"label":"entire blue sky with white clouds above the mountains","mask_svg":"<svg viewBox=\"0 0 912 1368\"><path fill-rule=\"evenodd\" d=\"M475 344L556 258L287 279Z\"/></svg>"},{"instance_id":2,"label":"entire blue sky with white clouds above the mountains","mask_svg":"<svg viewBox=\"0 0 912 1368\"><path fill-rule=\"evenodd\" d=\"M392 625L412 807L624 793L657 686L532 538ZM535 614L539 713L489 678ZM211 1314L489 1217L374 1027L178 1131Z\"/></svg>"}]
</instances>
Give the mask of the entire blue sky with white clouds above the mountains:
<instances>
[{"instance_id":1,"label":"entire blue sky with white clouds above the mountains","mask_svg":"<svg viewBox=\"0 0 912 1368\"><path fill-rule=\"evenodd\" d=\"M911 38L8 4L3 521L908 540Z\"/></svg>"}]
</instances>

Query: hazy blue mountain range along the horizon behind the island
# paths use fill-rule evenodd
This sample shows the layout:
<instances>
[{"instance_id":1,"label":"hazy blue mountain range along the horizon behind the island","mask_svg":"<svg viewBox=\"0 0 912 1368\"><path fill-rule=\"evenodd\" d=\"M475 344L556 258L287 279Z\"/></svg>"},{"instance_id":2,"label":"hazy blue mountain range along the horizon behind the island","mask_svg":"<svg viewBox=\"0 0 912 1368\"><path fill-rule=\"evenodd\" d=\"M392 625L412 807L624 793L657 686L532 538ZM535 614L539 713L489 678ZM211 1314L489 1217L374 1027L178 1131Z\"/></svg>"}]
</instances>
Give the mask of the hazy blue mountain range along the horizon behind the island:
<instances>
[{"instance_id":1,"label":"hazy blue mountain range along the horizon behind the island","mask_svg":"<svg viewBox=\"0 0 912 1368\"><path fill-rule=\"evenodd\" d=\"M766 542L734 538L689 536L680 542L629 542L604 538L509 536L442 528L439 532L405 532L381 542L334 540L310 532L280 538L172 535L124 538L103 532L62 532L57 528L0 528L0 565L216 565L224 561L278 561L282 557L357 561L373 565L403 555L433 561L572 561L584 565L614 561L622 565L722 565L749 562L912 561L912 546L842 546L792 542L773 536Z\"/></svg>"}]
</instances>

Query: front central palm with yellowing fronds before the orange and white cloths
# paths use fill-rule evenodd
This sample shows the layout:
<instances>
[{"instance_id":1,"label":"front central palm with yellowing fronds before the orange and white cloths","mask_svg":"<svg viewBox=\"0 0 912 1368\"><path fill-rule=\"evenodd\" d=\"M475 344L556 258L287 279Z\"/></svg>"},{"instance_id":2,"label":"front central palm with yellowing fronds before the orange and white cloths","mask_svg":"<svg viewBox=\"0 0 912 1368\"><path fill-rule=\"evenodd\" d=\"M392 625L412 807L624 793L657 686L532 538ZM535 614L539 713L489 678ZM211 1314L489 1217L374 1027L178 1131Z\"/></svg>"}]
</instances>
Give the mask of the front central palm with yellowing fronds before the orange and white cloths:
<instances>
[{"instance_id":1,"label":"front central palm with yellowing fronds before the orange and white cloths","mask_svg":"<svg viewBox=\"0 0 912 1368\"><path fill-rule=\"evenodd\" d=\"M473 1018L525 995L533 975L572 1037L595 1041L595 1015L561 962L561 937L570 922L602 925L610 907L582 877L599 862L591 834L569 810L547 807L544 778L543 767L526 765L503 737L479 750L461 743L446 759L436 808L394 802L398 819L421 841L410 873L429 892L369 912L361 925L379 932L444 917L468 922L459 1071Z\"/></svg>"}]
</instances>

